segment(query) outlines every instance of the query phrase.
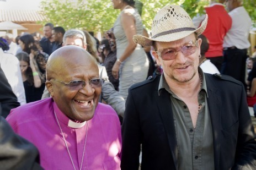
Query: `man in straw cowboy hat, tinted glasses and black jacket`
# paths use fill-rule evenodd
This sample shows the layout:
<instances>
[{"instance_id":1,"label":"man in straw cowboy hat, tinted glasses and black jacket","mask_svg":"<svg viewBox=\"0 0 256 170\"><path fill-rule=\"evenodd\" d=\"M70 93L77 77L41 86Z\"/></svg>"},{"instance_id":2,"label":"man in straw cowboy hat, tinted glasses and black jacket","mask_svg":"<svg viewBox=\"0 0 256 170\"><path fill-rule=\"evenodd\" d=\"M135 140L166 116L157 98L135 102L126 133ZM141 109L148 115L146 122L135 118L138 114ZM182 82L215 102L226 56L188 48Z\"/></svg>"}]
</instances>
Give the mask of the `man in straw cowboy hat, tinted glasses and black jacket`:
<instances>
[{"instance_id":1,"label":"man in straw cowboy hat, tinted glasses and black jacket","mask_svg":"<svg viewBox=\"0 0 256 170\"><path fill-rule=\"evenodd\" d=\"M207 15L198 29L179 6L156 14L152 38L163 74L129 89L121 169L255 169L256 142L243 84L199 66Z\"/></svg>"}]
</instances>

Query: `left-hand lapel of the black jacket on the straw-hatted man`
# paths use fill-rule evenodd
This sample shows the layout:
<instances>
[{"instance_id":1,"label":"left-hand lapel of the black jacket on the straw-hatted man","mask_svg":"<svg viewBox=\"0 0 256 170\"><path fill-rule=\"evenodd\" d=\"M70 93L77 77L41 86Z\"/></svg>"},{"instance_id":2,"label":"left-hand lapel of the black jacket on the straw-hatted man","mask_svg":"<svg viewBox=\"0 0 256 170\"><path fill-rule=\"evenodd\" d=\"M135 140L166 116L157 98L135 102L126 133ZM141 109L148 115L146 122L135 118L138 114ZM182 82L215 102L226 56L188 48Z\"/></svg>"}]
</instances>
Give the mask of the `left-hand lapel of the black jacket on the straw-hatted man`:
<instances>
[{"instance_id":1,"label":"left-hand lapel of the black jacket on the straw-hatted man","mask_svg":"<svg viewBox=\"0 0 256 170\"><path fill-rule=\"evenodd\" d=\"M166 135L168 138L170 152L173 157L173 162L175 164L175 169L177 169L177 157L178 157L178 150L177 150L177 139L176 139L176 132L174 127L174 119L172 113L172 106L170 105L170 96L166 90L161 90L161 95L158 96L157 94L157 106L159 109L159 113L166 130Z\"/></svg>"}]
</instances>

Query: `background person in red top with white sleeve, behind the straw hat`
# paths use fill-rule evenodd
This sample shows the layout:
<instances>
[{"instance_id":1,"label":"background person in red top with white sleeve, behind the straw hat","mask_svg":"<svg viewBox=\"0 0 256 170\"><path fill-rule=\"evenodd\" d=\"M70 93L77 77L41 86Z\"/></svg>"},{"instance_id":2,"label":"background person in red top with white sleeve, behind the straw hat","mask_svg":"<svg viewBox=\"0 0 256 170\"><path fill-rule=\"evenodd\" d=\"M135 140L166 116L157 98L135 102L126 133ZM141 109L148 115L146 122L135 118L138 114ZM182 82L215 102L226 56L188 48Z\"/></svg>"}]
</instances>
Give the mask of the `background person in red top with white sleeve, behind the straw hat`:
<instances>
[{"instance_id":1,"label":"background person in red top with white sleeve, behind the straw hat","mask_svg":"<svg viewBox=\"0 0 256 170\"><path fill-rule=\"evenodd\" d=\"M205 13L209 20L205 31L202 33L209 41L209 50L205 52L205 57L210 59L217 69L221 70L223 62L223 40L227 31L230 30L232 19L228 15L225 5L225 0L211 0L210 6L205 8ZM195 27L198 28L204 20L204 15L198 15L193 18Z\"/></svg>"}]
</instances>

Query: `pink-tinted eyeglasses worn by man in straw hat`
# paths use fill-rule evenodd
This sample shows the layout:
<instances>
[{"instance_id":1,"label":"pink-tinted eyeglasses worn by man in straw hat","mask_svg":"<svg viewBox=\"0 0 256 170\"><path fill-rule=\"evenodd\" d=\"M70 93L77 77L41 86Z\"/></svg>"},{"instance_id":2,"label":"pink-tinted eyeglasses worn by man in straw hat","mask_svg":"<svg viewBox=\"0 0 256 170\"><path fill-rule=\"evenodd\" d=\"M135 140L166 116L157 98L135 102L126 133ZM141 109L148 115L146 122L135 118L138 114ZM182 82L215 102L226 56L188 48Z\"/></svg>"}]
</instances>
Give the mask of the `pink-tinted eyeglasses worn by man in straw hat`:
<instances>
[{"instance_id":1,"label":"pink-tinted eyeglasses worn by man in straw hat","mask_svg":"<svg viewBox=\"0 0 256 170\"><path fill-rule=\"evenodd\" d=\"M186 42L185 45L180 46L179 48L180 50L175 50L174 48L161 48L156 52L163 60L175 59L179 51L181 51L185 56L189 56L194 54L198 49L198 40Z\"/></svg>"}]
</instances>

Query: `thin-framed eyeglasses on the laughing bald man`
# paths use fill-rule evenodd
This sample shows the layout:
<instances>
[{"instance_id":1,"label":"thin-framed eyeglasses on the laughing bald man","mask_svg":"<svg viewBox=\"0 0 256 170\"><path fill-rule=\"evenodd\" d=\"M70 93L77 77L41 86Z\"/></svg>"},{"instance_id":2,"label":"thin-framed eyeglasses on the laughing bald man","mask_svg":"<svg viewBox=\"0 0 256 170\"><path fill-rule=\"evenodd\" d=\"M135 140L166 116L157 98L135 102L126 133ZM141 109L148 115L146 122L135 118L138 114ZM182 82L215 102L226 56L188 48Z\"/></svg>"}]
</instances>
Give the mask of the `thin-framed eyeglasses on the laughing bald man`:
<instances>
[{"instance_id":1,"label":"thin-framed eyeglasses on the laughing bald man","mask_svg":"<svg viewBox=\"0 0 256 170\"><path fill-rule=\"evenodd\" d=\"M86 86L86 82L89 82L89 85L92 86L93 88L102 87L104 84L104 81L105 81L105 79L102 79L102 78L91 79L89 81L73 80L68 83L66 83L64 81L56 80L56 79L51 79L51 80L57 81L59 83L62 83L64 85L70 87L71 91L83 89L83 87Z\"/></svg>"}]
</instances>

